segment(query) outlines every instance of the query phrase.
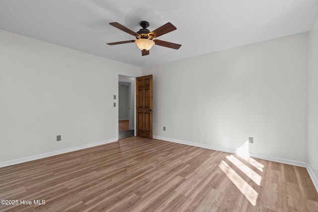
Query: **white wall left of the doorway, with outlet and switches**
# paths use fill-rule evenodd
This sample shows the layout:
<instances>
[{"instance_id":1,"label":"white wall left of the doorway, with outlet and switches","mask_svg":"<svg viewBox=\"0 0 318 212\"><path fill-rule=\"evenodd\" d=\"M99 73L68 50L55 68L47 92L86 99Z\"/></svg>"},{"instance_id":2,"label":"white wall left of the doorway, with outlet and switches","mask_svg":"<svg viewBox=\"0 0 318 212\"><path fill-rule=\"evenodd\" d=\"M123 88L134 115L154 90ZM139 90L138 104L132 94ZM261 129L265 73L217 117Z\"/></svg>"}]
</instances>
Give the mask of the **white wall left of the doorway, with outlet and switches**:
<instances>
[{"instance_id":1,"label":"white wall left of the doorway, with outlet and switches","mask_svg":"<svg viewBox=\"0 0 318 212\"><path fill-rule=\"evenodd\" d=\"M116 139L118 71L141 74L0 30L0 162Z\"/></svg>"}]
</instances>

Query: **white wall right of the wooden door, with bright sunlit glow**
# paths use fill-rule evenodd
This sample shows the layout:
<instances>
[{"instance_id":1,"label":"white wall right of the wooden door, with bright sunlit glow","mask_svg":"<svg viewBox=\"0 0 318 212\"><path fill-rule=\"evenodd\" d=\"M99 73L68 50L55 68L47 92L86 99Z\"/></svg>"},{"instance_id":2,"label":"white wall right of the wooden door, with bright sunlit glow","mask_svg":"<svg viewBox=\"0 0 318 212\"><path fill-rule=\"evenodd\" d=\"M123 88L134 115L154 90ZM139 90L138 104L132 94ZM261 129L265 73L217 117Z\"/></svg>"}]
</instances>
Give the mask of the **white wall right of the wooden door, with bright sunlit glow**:
<instances>
[{"instance_id":1,"label":"white wall right of the wooden door, with bright sunlit glow","mask_svg":"<svg viewBox=\"0 0 318 212\"><path fill-rule=\"evenodd\" d=\"M144 68L154 136L226 149L253 137L251 153L307 162L307 42L301 33Z\"/></svg>"}]
</instances>

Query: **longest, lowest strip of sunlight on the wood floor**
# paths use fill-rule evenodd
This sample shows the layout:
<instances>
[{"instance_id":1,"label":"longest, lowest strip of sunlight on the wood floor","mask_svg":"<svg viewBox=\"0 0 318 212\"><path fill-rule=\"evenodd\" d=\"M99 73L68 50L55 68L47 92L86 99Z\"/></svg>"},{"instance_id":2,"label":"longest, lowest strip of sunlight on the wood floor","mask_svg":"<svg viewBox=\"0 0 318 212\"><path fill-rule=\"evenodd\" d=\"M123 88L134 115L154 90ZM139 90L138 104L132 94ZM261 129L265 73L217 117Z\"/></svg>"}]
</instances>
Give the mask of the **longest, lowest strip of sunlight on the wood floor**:
<instances>
[{"instance_id":1,"label":"longest, lowest strip of sunlight on the wood floor","mask_svg":"<svg viewBox=\"0 0 318 212\"><path fill-rule=\"evenodd\" d=\"M221 161L219 167L226 173L228 178L234 183L239 191L246 197L246 199L253 205L256 206L256 200L258 193L246 183L238 173L236 173L224 160Z\"/></svg>"}]
</instances>

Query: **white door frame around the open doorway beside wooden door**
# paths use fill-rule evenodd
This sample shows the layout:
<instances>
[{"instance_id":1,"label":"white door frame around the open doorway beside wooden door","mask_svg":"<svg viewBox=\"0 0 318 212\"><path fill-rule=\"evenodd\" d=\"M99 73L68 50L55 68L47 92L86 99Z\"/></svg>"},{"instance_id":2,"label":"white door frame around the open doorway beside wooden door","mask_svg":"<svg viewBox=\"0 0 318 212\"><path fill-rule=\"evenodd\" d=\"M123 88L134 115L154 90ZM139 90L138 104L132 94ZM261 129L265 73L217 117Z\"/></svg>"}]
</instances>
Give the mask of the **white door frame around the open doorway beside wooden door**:
<instances>
[{"instance_id":1,"label":"white door frame around the open doorway beside wooden door","mask_svg":"<svg viewBox=\"0 0 318 212\"><path fill-rule=\"evenodd\" d=\"M129 76L129 77L132 77L134 78L134 82L135 82L135 86L134 88L131 87L131 89L134 89L135 91L135 95L134 95L134 108L136 108L136 75L133 75L133 74L130 74L130 73L124 73L124 72L117 72L117 82L116 82L116 99L114 99L114 101L116 102L116 140L118 141L119 139L119 128L118 128L118 123L119 123L119 107L118 107L118 94L119 94L119 91L118 91L118 86L119 86L119 75L122 75L122 76ZM136 113L136 111L135 111ZM131 116L131 114L129 114L129 116ZM134 116L134 136L136 136L136 115Z\"/></svg>"}]
</instances>

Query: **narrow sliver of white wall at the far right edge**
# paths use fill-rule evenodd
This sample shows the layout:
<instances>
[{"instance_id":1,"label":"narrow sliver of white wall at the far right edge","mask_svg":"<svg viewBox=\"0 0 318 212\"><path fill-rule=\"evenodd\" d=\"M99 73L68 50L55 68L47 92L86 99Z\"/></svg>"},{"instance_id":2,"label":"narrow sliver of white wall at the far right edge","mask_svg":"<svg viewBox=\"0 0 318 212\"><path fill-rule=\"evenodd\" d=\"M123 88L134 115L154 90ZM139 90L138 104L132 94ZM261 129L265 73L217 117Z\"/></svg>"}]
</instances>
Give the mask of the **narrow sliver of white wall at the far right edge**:
<instances>
[{"instance_id":1,"label":"narrow sliver of white wall at the far right edge","mask_svg":"<svg viewBox=\"0 0 318 212\"><path fill-rule=\"evenodd\" d=\"M318 16L309 33L308 163L318 176ZM316 179L318 183L318 179Z\"/></svg>"}]
</instances>

